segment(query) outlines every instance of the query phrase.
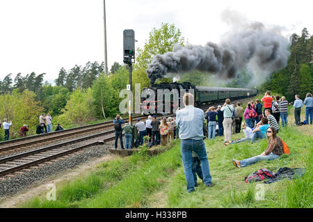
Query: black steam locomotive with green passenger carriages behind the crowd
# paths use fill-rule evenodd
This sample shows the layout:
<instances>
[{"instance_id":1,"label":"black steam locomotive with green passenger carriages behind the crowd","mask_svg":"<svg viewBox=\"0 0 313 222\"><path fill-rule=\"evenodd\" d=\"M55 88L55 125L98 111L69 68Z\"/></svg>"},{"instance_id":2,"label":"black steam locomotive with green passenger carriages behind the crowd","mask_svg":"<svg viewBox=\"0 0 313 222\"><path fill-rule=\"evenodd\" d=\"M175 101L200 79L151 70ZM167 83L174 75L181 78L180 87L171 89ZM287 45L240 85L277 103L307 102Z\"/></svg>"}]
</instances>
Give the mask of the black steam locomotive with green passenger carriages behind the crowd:
<instances>
[{"instance_id":1,"label":"black steam locomotive with green passenger carriages behind the crowd","mask_svg":"<svg viewBox=\"0 0 313 222\"><path fill-rule=\"evenodd\" d=\"M163 96L157 95L158 90L166 90L167 93L163 93ZM168 91L169 90L169 91ZM193 86L191 83L184 82L180 83L161 83L161 84L152 84L150 88L144 88L143 94L145 95L154 95L155 97L149 97L147 100L147 96L141 97L141 110L145 111L143 113L147 114L147 110L149 110L154 105L155 111L160 108L165 110L165 97L166 94L172 92L172 90L177 90L179 102L174 102L173 95L170 93L170 113L173 110L177 109L177 106L181 104L181 99L183 95L180 95L181 90L193 90L195 95L195 106L202 106L205 104L211 104L213 102L225 101L227 98L230 100L238 100L244 97L253 97L257 95L257 89L248 89L248 88L222 88L222 87L208 87L208 86ZM152 92L153 91L153 92ZM183 91L184 92L184 91ZM160 100L161 99L161 100ZM150 113L157 113L151 112Z\"/></svg>"}]
</instances>

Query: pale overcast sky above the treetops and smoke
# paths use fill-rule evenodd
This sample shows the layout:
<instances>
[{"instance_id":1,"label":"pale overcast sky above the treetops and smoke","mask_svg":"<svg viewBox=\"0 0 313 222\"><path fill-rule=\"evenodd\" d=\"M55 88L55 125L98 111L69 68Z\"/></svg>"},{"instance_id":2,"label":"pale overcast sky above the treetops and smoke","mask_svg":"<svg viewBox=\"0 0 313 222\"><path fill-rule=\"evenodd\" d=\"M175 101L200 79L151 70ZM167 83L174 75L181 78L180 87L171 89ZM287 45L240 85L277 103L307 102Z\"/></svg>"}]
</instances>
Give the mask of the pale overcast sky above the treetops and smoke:
<instances>
[{"instance_id":1,"label":"pale overcast sky above the treetops and smoke","mask_svg":"<svg viewBox=\"0 0 313 222\"><path fill-rule=\"evenodd\" d=\"M122 32L134 29L136 47L161 22L175 24L189 43L218 43L227 32L220 14L235 10L252 21L277 25L283 35L306 27L313 33L313 1L106 0L109 70L122 63ZM0 79L18 72L25 76L58 71L88 61L104 61L103 0L0 0Z\"/></svg>"}]
</instances>

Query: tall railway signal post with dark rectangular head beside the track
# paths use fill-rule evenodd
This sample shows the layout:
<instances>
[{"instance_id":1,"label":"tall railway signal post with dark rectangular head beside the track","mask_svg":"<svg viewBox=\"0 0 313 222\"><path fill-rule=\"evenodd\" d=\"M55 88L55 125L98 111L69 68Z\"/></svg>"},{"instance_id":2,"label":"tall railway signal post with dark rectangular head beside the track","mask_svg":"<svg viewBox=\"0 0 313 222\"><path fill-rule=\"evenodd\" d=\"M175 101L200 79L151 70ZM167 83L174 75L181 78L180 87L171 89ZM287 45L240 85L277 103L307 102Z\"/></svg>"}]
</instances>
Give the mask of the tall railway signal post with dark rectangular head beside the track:
<instances>
[{"instance_id":1,"label":"tall railway signal post with dark rectangular head beside the track","mask_svg":"<svg viewBox=\"0 0 313 222\"><path fill-rule=\"evenodd\" d=\"M123 43L124 43L124 60L123 62L129 66L129 86L127 90L129 90L129 104L128 104L128 112L129 112L129 124L131 124L131 106L132 106L132 94L131 94L131 72L132 72L132 64L135 63L135 32L133 29L125 29L123 31Z\"/></svg>"}]
</instances>

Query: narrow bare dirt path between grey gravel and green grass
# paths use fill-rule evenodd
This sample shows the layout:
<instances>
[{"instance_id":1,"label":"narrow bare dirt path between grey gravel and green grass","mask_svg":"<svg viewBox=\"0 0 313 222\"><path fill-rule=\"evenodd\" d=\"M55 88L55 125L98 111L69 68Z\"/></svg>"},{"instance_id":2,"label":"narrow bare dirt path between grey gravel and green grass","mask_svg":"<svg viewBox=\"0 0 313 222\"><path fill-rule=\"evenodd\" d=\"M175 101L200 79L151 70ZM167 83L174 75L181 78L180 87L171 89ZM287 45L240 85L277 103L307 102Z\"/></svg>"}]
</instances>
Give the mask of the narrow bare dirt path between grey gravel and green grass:
<instances>
[{"instance_id":1,"label":"narrow bare dirt path between grey gravel and green grass","mask_svg":"<svg viewBox=\"0 0 313 222\"><path fill-rule=\"evenodd\" d=\"M74 168L71 170L67 170L62 173L57 173L56 175L51 175L47 177L45 180L40 181L36 184L33 184L31 187L24 189L23 191L15 194L14 196L6 196L0 199L0 208L12 208L17 207L18 204L30 200L35 196L39 196L40 194L47 193L47 185L54 184L56 185L56 189L58 189L58 184L64 184L73 180L77 177L81 177L82 175L86 175L86 173L90 172L95 166L98 164L113 159L113 155L106 155L100 158L90 159L78 168Z\"/></svg>"}]
</instances>

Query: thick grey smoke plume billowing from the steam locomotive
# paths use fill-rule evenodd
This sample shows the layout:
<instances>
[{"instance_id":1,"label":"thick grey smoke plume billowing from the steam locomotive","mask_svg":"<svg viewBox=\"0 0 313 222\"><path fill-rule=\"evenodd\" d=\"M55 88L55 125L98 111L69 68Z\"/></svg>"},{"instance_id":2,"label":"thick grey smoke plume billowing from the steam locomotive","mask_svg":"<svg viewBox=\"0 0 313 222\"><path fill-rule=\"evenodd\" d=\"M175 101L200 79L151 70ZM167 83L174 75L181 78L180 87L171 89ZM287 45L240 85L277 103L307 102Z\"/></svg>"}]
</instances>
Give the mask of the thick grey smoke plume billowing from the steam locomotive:
<instances>
[{"instance_id":1,"label":"thick grey smoke plume billowing from the steam locomotive","mask_svg":"<svg viewBox=\"0 0 313 222\"><path fill-rule=\"evenodd\" d=\"M264 74L280 70L287 65L289 41L278 29L266 29L260 22L247 23L246 18L233 12L223 13L225 21L232 24L233 31L216 45L175 46L173 51L155 56L147 68L150 83L166 76L168 72L182 74L199 70L218 74L223 79L236 77L236 72L246 66Z\"/></svg>"}]
</instances>

